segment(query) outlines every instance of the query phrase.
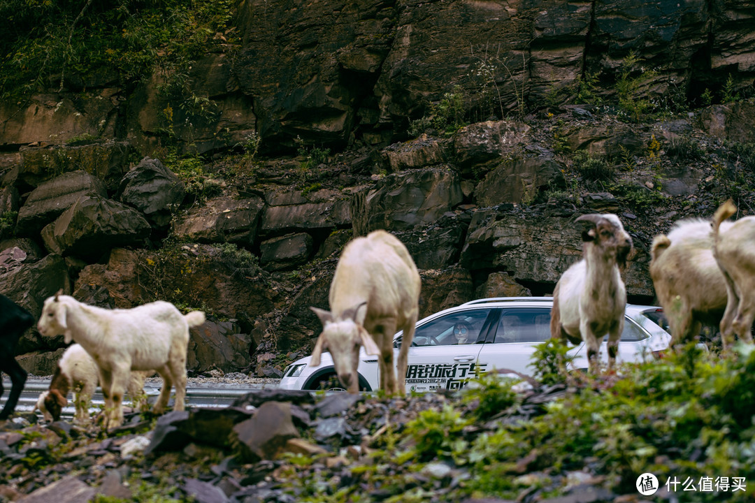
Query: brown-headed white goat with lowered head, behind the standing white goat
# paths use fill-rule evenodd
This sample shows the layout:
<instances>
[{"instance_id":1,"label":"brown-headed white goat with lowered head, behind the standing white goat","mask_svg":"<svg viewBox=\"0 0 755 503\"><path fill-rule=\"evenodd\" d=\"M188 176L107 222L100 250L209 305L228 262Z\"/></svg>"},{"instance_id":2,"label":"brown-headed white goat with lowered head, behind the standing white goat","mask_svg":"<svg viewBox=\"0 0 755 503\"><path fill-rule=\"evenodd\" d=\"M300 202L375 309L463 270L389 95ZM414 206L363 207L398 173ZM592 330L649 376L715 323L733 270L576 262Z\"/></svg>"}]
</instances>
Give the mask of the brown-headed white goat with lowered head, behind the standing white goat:
<instances>
[{"instance_id":1,"label":"brown-headed white goat with lowered head, behind the standing white goat","mask_svg":"<svg viewBox=\"0 0 755 503\"><path fill-rule=\"evenodd\" d=\"M143 397L144 380L152 372L131 372L128 381L128 396L136 404ZM89 401L99 382L97 363L79 344L70 345L57 362L50 388L39 394L36 408L47 421L57 421L63 407L68 405L68 393L73 391L75 415L79 423L89 421Z\"/></svg>"}]
</instances>

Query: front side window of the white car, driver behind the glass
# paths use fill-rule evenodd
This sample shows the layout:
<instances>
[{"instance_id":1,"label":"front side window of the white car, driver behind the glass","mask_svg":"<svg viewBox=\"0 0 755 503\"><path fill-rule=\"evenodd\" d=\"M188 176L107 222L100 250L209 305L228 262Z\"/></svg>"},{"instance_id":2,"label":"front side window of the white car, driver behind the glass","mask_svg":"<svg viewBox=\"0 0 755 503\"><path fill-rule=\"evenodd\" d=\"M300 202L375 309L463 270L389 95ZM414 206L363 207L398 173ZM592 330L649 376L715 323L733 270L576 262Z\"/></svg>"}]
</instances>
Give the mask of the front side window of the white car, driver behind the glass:
<instances>
[{"instance_id":1,"label":"front side window of the white car, driver behind the glass","mask_svg":"<svg viewBox=\"0 0 755 503\"><path fill-rule=\"evenodd\" d=\"M428 321L414 331L412 345L475 344L478 342L480 330L485 325L490 311L490 309L457 311ZM485 337L484 333L482 337Z\"/></svg>"}]
</instances>

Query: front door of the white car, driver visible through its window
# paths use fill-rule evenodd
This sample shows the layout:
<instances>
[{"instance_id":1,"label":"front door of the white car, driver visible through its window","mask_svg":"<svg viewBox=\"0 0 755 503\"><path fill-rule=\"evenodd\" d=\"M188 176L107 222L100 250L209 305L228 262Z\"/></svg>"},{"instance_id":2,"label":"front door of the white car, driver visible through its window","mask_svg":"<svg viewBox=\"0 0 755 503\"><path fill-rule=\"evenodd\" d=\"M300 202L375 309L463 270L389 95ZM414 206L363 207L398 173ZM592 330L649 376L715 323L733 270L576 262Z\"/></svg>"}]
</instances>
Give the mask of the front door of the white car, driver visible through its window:
<instances>
[{"instance_id":1,"label":"front door of the white car, driver visible through its window","mask_svg":"<svg viewBox=\"0 0 755 503\"><path fill-rule=\"evenodd\" d=\"M496 308L471 308L442 314L414 331L408 352L406 391L459 389L479 369L482 342L498 319ZM459 343L455 327L466 324L467 340Z\"/></svg>"}]
</instances>

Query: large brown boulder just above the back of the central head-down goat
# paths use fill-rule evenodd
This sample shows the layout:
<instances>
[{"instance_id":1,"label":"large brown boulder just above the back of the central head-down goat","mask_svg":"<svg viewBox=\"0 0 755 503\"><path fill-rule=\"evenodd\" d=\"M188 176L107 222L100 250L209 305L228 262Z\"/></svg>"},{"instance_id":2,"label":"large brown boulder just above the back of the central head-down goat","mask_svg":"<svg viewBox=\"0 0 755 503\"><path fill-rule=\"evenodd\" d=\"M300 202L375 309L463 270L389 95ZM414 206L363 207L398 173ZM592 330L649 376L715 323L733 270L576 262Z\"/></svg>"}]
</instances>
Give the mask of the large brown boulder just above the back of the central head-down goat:
<instances>
[{"instance_id":1,"label":"large brown boulder just above the back of the central head-down goat","mask_svg":"<svg viewBox=\"0 0 755 503\"><path fill-rule=\"evenodd\" d=\"M353 198L357 235L378 228L404 231L435 222L462 201L456 173L444 168L407 170L381 179L366 194Z\"/></svg>"}]
</instances>

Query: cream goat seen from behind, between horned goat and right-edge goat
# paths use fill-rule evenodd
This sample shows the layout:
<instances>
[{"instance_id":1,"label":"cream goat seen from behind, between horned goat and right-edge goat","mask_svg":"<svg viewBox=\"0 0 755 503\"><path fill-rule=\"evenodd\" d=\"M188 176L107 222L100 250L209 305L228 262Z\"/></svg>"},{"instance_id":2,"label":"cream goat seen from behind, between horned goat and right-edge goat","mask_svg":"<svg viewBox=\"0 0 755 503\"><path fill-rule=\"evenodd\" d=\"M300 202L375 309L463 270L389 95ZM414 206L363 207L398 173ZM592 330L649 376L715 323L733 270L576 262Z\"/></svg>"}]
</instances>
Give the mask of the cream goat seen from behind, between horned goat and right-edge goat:
<instances>
[{"instance_id":1,"label":"cream goat seen from behind, between horned goat and right-edge goat","mask_svg":"<svg viewBox=\"0 0 755 503\"><path fill-rule=\"evenodd\" d=\"M650 277L671 330L671 345L700 334L701 324L717 325L725 314L726 281L713 256L711 222L684 219L650 247ZM723 222L721 228L729 228Z\"/></svg>"}]
</instances>

